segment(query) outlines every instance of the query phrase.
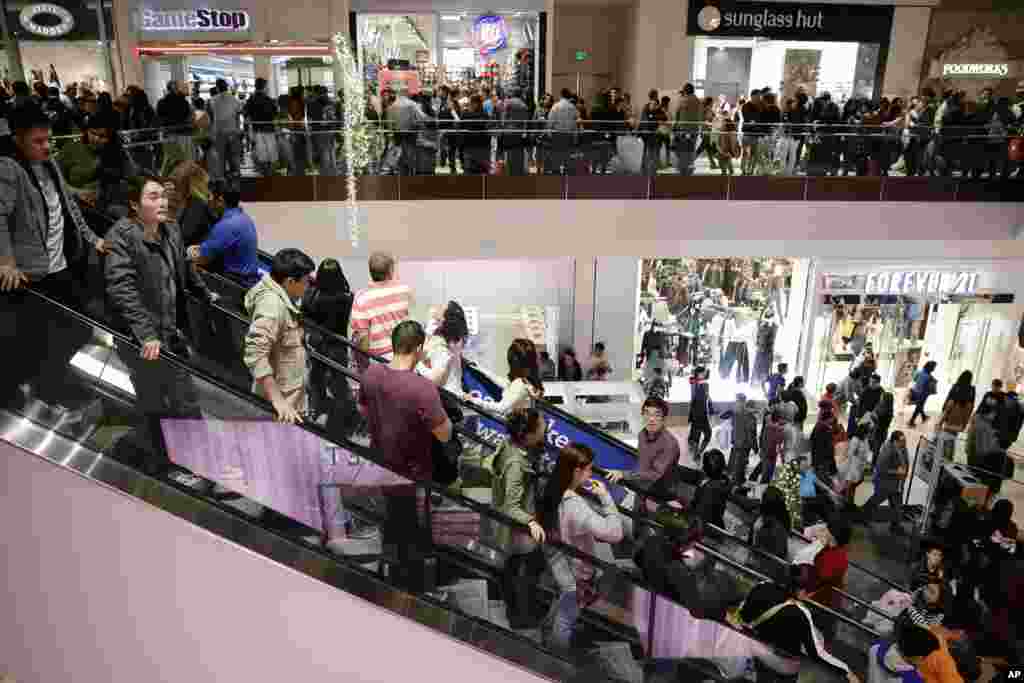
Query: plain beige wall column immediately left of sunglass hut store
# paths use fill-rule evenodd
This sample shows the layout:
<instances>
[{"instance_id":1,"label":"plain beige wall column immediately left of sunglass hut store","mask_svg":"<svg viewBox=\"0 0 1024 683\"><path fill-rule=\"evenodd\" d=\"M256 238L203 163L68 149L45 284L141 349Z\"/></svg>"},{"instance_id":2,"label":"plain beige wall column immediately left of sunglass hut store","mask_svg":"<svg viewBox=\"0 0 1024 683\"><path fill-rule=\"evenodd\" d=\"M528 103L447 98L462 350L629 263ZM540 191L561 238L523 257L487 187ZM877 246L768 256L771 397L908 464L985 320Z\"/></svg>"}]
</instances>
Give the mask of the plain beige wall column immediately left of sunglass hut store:
<instances>
[{"instance_id":1,"label":"plain beige wall column immediately left of sunglass hut store","mask_svg":"<svg viewBox=\"0 0 1024 683\"><path fill-rule=\"evenodd\" d=\"M632 54L626 55L631 67L626 89L635 106L643 106L651 88L675 99L689 81L693 39L686 35L687 11L686 2L636 0L628 41Z\"/></svg>"}]
</instances>

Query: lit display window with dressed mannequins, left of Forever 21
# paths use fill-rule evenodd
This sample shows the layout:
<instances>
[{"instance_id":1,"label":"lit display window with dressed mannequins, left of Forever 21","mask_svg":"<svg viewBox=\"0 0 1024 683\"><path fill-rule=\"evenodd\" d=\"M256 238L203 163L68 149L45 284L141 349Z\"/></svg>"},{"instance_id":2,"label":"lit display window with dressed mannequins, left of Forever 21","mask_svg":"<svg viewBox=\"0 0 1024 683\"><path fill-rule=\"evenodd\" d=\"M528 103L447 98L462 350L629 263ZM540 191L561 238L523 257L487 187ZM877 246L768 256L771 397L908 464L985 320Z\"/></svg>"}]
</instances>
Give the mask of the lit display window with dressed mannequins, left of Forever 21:
<instances>
[{"instance_id":1,"label":"lit display window with dressed mannequins, left of Forever 21","mask_svg":"<svg viewBox=\"0 0 1024 683\"><path fill-rule=\"evenodd\" d=\"M636 379L687 402L689 377L702 367L714 400L764 399L778 364L796 364L806 271L790 258L644 259Z\"/></svg>"}]
</instances>

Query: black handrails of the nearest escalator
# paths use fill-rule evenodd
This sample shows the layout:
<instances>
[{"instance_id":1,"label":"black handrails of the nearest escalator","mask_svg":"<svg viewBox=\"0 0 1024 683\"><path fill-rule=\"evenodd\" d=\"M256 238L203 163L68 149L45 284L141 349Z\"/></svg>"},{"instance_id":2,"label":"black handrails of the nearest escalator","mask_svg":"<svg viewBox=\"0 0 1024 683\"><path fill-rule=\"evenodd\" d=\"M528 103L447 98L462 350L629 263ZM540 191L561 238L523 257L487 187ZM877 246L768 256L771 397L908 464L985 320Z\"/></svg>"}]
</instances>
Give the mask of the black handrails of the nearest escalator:
<instances>
[{"instance_id":1,"label":"black handrails of the nearest escalator","mask_svg":"<svg viewBox=\"0 0 1024 683\"><path fill-rule=\"evenodd\" d=\"M50 307L53 307L56 310L58 310L61 314L70 316L70 317L72 317L73 319L77 321L78 323L80 323L82 325L89 326L89 327L92 327L92 328L97 328L97 329L101 330L104 333L110 334L115 339L115 341L120 342L120 343L126 345L129 348L138 349L138 350L141 349L141 347L139 346L139 344L134 339L131 339L127 335L124 335L123 333L121 333L121 332L113 329L108 324L105 324L103 322L100 322L100 321L95 321L93 318L90 318L88 315L85 315L85 314L83 314L83 313L81 313L79 311L76 311L76 310L74 310L72 308L69 308L65 304L62 304L62 303L60 303L58 301L55 301L54 299L51 299L50 297L46 296L45 294L42 294L41 292L33 290L31 287L27 291L29 292L29 294L31 296L35 296L40 301L44 302L46 305L48 305ZM266 399L260 397L260 396L257 396L257 395L255 395L255 394L253 394L251 392L244 392L244 391L241 391L241 390L237 389L233 386L230 386L229 384L223 382L219 378L216 378L216 377L210 375L209 373L207 373L206 371L204 371L204 370L202 370L200 368L197 368L196 366L194 366L193 364L188 362L187 360L180 358L179 356L177 356L173 352L170 352L170 351L166 351L165 352L165 351L162 350L161 351L160 361L168 362L172 367L174 367L174 368L176 368L178 370L184 371L184 372L188 373L189 375L191 375L191 376L194 376L194 377L202 380L203 382L211 384L212 386L216 387L217 389L219 389L221 391L224 391L225 393L228 393L228 394L234 396L236 398L238 398L239 400L241 400L243 402L248 402L248 403L250 403L252 405L257 405L259 408L262 408L268 415L272 415L273 414L273 407ZM336 436L333 436L330 433L328 433L325 429L321 428L318 425L315 425L315 424L306 424L306 423L303 423L303 424L298 425L298 426L300 428L306 430L306 431L309 431L310 433L314 434L315 436L317 436L318 438L321 438L321 439L323 439L325 441L336 443L337 445L340 445L340 446L348 450L349 452L357 455L360 458L365 458L366 460L368 460L368 461L370 461L372 463L375 463L375 464L377 464L378 466L380 466L380 467L382 467L384 469L390 470L390 468L388 467L387 464L380 463L378 461L378 459L376 457L374 457L374 455L371 454L370 449L367 449L367 447L365 447L365 446L362 446L362 445L360 445L358 443L354 443L352 441L349 441L348 439L338 438ZM341 442L339 442L339 441L341 441ZM404 478L409 479L410 481L416 483L419 486L423 486L424 488L426 488L428 490L436 493L436 494L440 495L442 498L447 498L447 499L450 499L450 500L458 503L460 506L465 507L467 509L471 509L474 512L477 512L477 513L481 514L484 517L488 517L490 519L497 520L500 523L506 525L506 526L521 527L523 529L527 528L524 524L520 524L519 522L515 521L514 519L512 519L512 518L506 516L505 514L503 514L503 513L495 510L494 508L492 508L489 506L485 506L485 505L483 505L481 503L478 503L477 501L474 501L472 499L463 497L462 495L449 493L443 486L441 486L441 485L439 485L439 484L437 484L437 483L435 483L433 481L430 481L430 480L416 480L416 479L413 479L413 478L411 478L411 477L409 477L409 476L407 476L404 474L402 474L401 476L403 476ZM603 560L600 560L599 558L591 557L591 556L589 556L589 555L587 555L587 554L579 551L577 548L574 548L574 547L572 547L570 545L566 545L566 544L563 544L563 543L560 543L560 542L550 542L550 541L547 543L547 545L555 548L556 550L558 550L558 551L560 551L562 553L565 553L565 554L569 555L570 557L574 557L577 559L584 560L585 562L588 562L588 563L590 563L590 564L592 564L594 566L603 568L605 570L610 570L610 571L615 571L615 572L623 573L623 570L620 567L617 567L616 565L608 563L608 562L604 562ZM717 551L715 551L713 549L702 548L701 551L708 553L712 557L715 557L717 560L722 561L722 562L728 564L729 566L733 567L734 569L738 570L741 573L745 573L748 575L753 575L753 577L758 578L758 579L765 579L765 577L763 574L761 574L760 572L754 571L750 567L743 566L742 564L739 564L738 562L735 562L731 558L728 558L728 557L725 557L725 556L719 554ZM637 587L637 588L641 588L641 589L646 590L651 595L655 595L657 597L660 597L660 598L663 598L665 600L668 600L671 603L679 604L672 597L667 596L667 595L663 595L662 593L653 590L642 579L641 580L637 580L634 577L630 577L630 583L633 586ZM826 612L830 613L833 616L835 616L835 617L837 617L837 618L839 618L839 620L841 620L841 621L843 621L843 622L845 622L847 624L850 624L851 626L854 626L855 628L858 628L858 629L860 629L862 631L865 631L865 632L867 632L868 634L870 634L872 636L876 636L876 637L879 636L879 634L877 634L876 632L871 631L870 629L868 629L864 625L860 624L859 622L856 622L855 620L852 620L851 617L849 617L846 614L843 614L841 612L836 612L835 610L831 610L830 608L825 607L825 606L819 606L816 603L813 603L813 601L811 601L811 604L815 604L816 607L819 607L820 609L825 610ZM688 608L687 608L686 605L679 604L679 606L688 610ZM745 636L748 636L748 637L750 637L750 638L752 638L754 640L758 640L764 646L769 647L773 651L779 651L781 653L781 650L778 650L778 648L775 648L774 646L772 646L772 645L770 645L768 643L760 641L760 639L757 638L757 636L752 631L745 631L745 630L741 630L741 629L736 629L735 627L733 627L731 624L728 624L727 622L722 622L720 624L722 624L726 628L736 630L739 633L742 633L743 635L745 635ZM807 655L804 655L802 653L792 653L792 652L785 652L784 656L788 656L788 657L797 656L797 657L801 657L801 658L807 657ZM810 657L808 657L808 658L810 658Z\"/></svg>"}]
</instances>

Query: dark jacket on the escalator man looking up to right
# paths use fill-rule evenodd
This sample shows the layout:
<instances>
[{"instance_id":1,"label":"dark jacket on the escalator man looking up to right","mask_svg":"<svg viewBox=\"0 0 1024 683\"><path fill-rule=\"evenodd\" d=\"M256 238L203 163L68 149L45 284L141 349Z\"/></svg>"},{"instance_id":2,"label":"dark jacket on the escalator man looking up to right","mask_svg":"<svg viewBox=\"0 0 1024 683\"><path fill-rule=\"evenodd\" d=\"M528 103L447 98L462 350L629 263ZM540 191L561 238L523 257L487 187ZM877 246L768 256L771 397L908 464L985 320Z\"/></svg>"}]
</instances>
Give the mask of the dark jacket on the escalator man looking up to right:
<instances>
[{"instance_id":1,"label":"dark jacket on the escalator man looking up to right","mask_svg":"<svg viewBox=\"0 0 1024 683\"><path fill-rule=\"evenodd\" d=\"M191 330L186 291L210 301L209 290L185 259L177 224L164 223L162 228L174 269L173 292L163 289L160 272L152 268L147 256L150 247L142 239L142 226L138 222L123 218L106 233L111 249L104 264L106 297L114 312L115 325L139 343L154 339L165 344L179 341L168 338L168 331L161 330L157 311L165 297L176 298L177 332L183 335L188 335Z\"/></svg>"}]
</instances>

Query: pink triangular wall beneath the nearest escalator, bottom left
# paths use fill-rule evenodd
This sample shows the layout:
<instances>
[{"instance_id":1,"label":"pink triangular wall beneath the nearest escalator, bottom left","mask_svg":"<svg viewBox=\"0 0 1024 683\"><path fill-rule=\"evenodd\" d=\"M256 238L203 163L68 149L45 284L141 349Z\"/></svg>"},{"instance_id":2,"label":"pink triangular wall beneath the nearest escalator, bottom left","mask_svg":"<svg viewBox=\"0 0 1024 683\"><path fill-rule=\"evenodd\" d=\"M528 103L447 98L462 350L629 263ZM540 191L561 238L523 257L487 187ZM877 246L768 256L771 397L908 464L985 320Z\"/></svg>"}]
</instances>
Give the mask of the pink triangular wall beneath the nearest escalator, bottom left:
<instances>
[{"instance_id":1,"label":"pink triangular wall beneath the nearest escalator, bottom left","mask_svg":"<svg viewBox=\"0 0 1024 683\"><path fill-rule=\"evenodd\" d=\"M0 492L18 683L545 680L6 442Z\"/></svg>"}]
</instances>

